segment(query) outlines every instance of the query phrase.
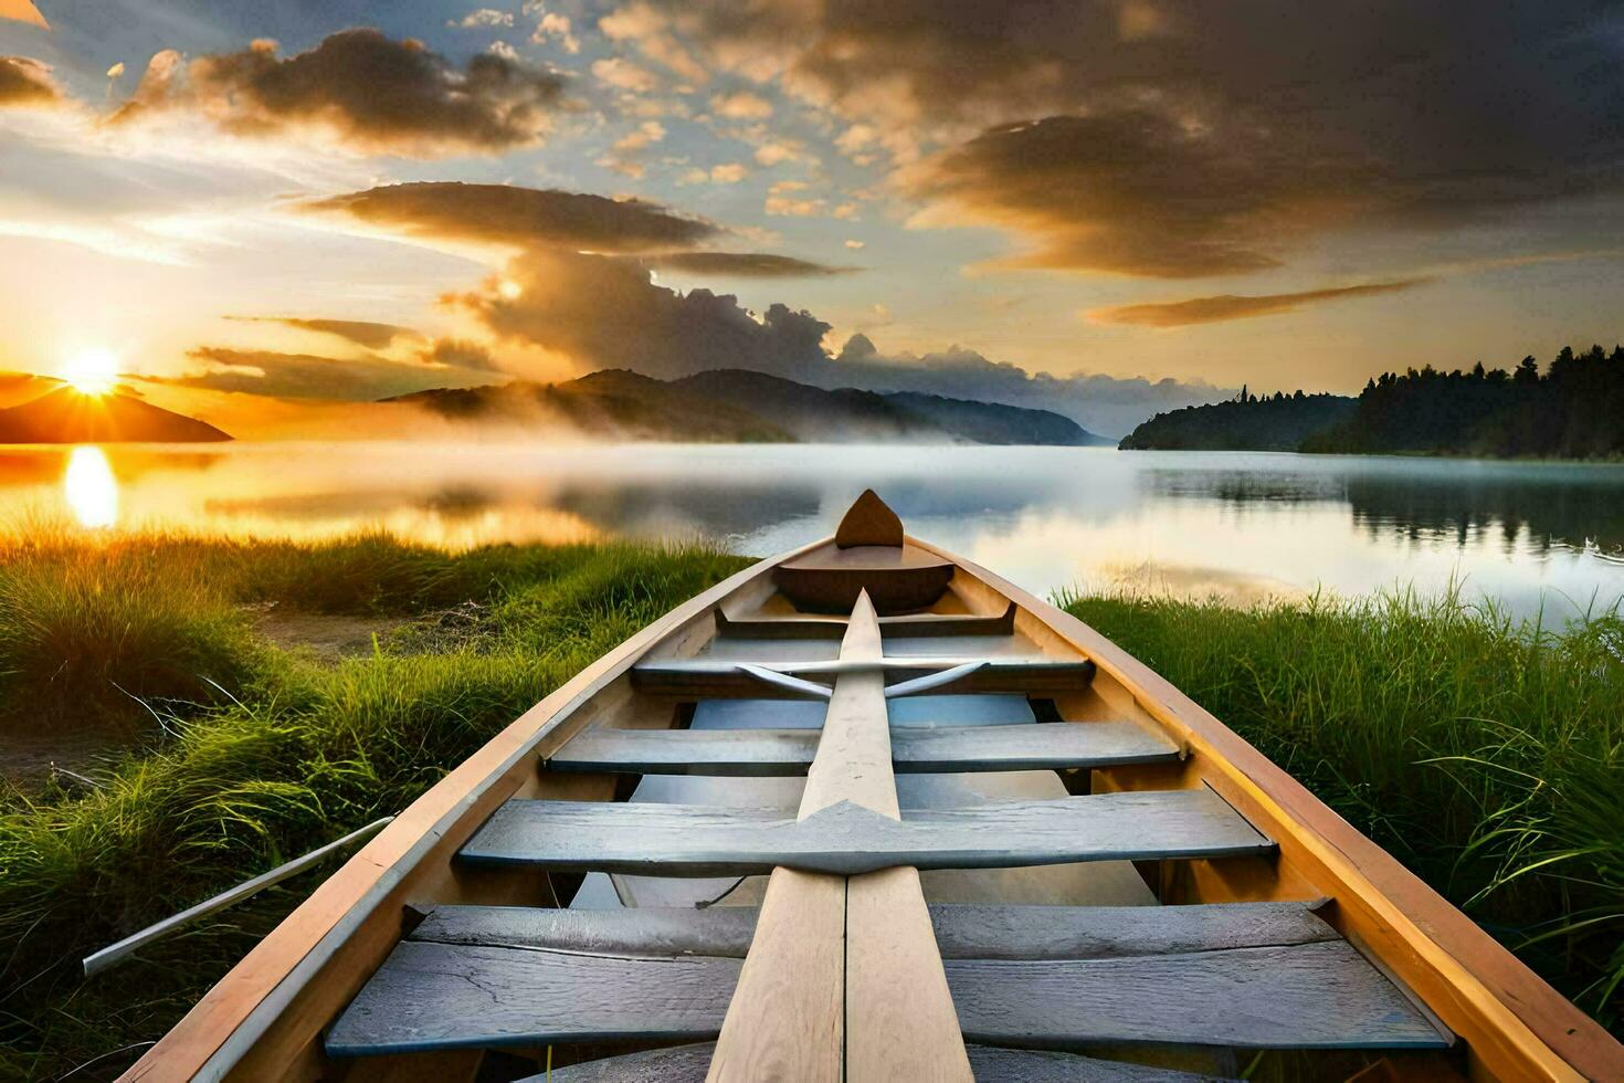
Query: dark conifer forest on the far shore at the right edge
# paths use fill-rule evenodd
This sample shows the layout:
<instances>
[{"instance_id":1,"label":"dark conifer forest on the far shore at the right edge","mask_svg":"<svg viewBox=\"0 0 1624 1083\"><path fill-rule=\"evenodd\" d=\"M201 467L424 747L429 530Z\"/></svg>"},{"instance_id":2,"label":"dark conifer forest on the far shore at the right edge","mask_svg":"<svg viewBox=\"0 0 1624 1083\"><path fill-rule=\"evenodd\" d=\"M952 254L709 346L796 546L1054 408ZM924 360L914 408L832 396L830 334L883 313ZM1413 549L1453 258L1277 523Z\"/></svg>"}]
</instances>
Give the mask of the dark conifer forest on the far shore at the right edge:
<instances>
[{"instance_id":1,"label":"dark conifer forest on the far shore at the right edge","mask_svg":"<svg viewBox=\"0 0 1624 1083\"><path fill-rule=\"evenodd\" d=\"M1624 346L1562 351L1540 370L1442 372L1432 365L1369 380L1358 399L1246 388L1229 401L1158 414L1122 448L1468 455L1605 460L1624 456Z\"/></svg>"}]
</instances>

